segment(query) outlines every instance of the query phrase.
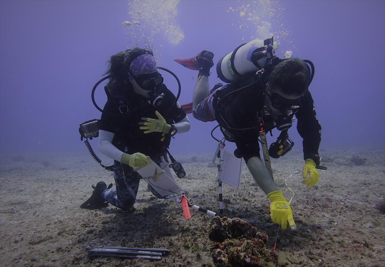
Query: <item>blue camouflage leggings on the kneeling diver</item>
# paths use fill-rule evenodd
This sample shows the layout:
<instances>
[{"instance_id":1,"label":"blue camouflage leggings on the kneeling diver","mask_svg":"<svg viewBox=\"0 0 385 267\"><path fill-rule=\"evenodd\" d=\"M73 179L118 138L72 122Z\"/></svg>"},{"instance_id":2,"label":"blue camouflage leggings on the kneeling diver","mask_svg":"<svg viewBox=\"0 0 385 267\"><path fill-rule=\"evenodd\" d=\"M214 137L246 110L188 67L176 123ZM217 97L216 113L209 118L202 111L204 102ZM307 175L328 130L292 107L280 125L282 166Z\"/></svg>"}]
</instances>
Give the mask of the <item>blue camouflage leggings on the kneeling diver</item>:
<instances>
[{"instance_id":1,"label":"blue camouflage leggings on the kneeling diver","mask_svg":"<svg viewBox=\"0 0 385 267\"><path fill-rule=\"evenodd\" d=\"M154 160L157 165L161 166L161 168L166 165L165 162L162 163L160 155L156 158L152 158L152 160ZM119 167L114 171L116 189L112 188L104 190L102 196L115 207L127 211L136 201L136 194L138 193L139 182L142 176L134 171L134 169L129 165L121 164L116 160L114 161L114 165L115 167ZM166 166L164 170L167 174L171 175L172 179L174 179L168 166ZM163 198L151 186L148 185L148 188L154 196L157 198Z\"/></svg>"}]
</instances>

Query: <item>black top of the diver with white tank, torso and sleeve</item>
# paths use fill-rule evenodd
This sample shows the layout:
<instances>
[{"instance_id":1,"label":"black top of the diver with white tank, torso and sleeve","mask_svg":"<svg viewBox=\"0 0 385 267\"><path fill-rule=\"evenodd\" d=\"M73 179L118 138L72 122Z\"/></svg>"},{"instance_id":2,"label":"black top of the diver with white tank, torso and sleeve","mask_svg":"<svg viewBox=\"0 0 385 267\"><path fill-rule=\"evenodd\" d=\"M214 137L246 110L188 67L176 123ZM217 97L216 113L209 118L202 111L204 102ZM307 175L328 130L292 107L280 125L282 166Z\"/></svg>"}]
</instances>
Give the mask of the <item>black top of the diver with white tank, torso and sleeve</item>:
<instances>
[{"instance_id":1,"label":"black top of the diver with white tank, torso and sleeve","mask_svg":"<svg viewBox=\"0 0 385 267\"><path fill-rule=\"evenodd\" d=\"M236 143L241 155L243 155L247 162L251 157L260 157L257 139L260 129L233 129L245 129L259 125L262 121L260 120L261 115L263 114L263 90L258 86L241 89L225 97L218 106L219 99L240 87L233 83L229 84L226 89L216 91L213 95L213 108L215 110L215 118L221 126L225 137L226 132L231 135L232 141ZM309 91L302 97L300 107L293 110L293 114L295 114L298 120L298 133L303 138L304 159L311 158L318 162L318 158L315 155L318 155L318 147L321 142L321 125L316 119L313 98ZM274 128L273 117L271 115L264 115L262 118L264 131L272 130ZM231 138L229 139L231 140Z\"/></svg>"}]
</instances>

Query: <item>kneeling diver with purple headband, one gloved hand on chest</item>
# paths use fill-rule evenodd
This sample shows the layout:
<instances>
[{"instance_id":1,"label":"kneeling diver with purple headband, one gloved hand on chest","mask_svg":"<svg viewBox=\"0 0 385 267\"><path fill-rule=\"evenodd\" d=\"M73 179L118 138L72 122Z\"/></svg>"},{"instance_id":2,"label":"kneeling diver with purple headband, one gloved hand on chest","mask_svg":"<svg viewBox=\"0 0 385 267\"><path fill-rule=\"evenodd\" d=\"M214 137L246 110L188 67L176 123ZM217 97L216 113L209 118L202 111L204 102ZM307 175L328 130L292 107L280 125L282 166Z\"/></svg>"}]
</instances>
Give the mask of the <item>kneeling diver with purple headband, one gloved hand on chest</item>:
<instances>
[{"instance_id":1,"label":"kneeling diver with purple headband, one gloved hand on chest","mask_svg":"<svg viewBox=\"0 0 385 267\"><path fill-rule=\"evenodd\" d=\"M163 83L152 51L136 47L117 53L111 56L105 74L109 81L99 121L99 151L114 160L116 189L100 181L92 186L94 192L83 207L105 207L108 201L128 211L136 201L142 178L134 168L145 166L151 158L174 179L167 164L167 148L173 135L190 129L190 122ZM154 196L163 198L148 187Z\"/></svg>"}]
</instances>

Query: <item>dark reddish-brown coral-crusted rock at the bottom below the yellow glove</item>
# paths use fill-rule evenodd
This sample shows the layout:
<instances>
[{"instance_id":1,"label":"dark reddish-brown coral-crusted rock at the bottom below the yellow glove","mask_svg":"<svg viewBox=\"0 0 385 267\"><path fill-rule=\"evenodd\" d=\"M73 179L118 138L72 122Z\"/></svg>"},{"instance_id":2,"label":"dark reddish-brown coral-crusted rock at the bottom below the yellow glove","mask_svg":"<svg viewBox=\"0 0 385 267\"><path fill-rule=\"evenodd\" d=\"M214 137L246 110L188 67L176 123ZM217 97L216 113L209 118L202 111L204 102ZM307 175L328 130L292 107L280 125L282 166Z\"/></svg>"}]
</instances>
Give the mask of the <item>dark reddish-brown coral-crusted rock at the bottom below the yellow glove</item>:
<instances>
[{"instance_id":1,"label":"dark reddish-brown coral-crusted rock at the bottom below the yellow glove","mask_svg":"<svg viewBox=\"0 0 385 267\"><path fill-rule=\"evenodd\" d=\"M214 241L211 256L215 266L268 266L276 264L277 255L266 249L268 236L239 218L231 221L216 216L211 221L209 239Z\"/></svg>"}]
</instances>

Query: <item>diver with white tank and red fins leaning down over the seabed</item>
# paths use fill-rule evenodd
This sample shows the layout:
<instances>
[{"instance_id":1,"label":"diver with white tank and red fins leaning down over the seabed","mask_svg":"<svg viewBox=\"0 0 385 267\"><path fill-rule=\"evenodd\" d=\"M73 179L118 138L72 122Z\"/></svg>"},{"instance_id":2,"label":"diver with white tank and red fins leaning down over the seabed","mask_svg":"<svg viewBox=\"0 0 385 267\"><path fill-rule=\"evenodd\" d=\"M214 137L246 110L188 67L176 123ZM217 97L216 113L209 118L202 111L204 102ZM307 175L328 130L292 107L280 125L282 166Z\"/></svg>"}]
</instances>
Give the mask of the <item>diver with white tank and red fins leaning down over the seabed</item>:
<instances>
[{"instance_id":1,"label":"diver with white tank and red fins leaning down over the seabed","mask_svg":"<svg viewBox=\"0 0 385 267\"><path fill-rule=\"evenodd\" d=\"M302 183L310 187L319 179L316 168L320 165L321 126L308 91L314 75L313 64L308 61L310 69L298 58L279 59L275 56L276 48L273 38L256 39L226 54L219 60L216 70L218 77L228 84L217 84L211 91L208 77L214 65L213 53L202 51L194 58L175 61L199 70L191 106L194 118L218 122L226 140L236 144L234 155L244 158L254 180L271 200L273 222L282 229L289 225L294 230L296 224L290 204L261 160L258 137L263 132L271 133L274 128L281 130L269 154L274 158L284 155L293 145L287 130L295 114L297 130L303 138Z\"/></svg>"}]
</instances>

